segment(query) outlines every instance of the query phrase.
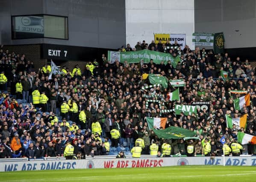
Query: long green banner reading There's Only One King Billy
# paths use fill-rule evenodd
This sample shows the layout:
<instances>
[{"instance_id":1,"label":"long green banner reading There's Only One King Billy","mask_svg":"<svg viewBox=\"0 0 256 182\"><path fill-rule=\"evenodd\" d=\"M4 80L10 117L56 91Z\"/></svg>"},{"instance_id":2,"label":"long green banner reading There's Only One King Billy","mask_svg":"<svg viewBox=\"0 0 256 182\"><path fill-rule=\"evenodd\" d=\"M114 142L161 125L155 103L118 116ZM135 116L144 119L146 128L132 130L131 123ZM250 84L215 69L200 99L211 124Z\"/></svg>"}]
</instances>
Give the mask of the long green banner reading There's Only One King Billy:
<instances>
[{"instance_id":1,"label":"long green banner reading There's Only One King Billy","mask_svg":"<svg viewBox=\"0 0 256 182\"><path fill-rule=\"evenodd\" d=\"M115 61L119 61L120 63L124 63L124 61L127 61L127 63L139 63L141 59L144 63L150 63L150 59L153 59L155 64L160 64L161 61L164 61L164 64L167 64L168 61L171 61L174 68L176 68L178 61L180 61L179 56L174 57L169 53L150 51L148 49L129 52L108 51L108 61L111 63L114 63Z\"/></svg>"}]
</instances>

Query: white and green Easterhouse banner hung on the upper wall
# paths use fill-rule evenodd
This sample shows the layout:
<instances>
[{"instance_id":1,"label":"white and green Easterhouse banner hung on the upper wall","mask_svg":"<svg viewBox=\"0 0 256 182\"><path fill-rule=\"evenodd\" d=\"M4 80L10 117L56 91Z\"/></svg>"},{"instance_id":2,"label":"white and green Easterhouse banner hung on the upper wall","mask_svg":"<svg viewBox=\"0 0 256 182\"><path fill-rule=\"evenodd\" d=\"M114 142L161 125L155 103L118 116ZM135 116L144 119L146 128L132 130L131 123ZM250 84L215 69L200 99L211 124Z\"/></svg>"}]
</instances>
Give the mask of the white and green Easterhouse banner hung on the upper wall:
<instances>
[{"instance_id":1,"label":"white and green Easterhouse banner hung on the upper wall","mask_svg":"<svg viewBox=\"0 0 256 182\"><path fill-rule=\"evenodd\" d=\"M192 44L195 46L213 46L214 34L212 33L193 33Z\"/></svg>"}]
</instances>

